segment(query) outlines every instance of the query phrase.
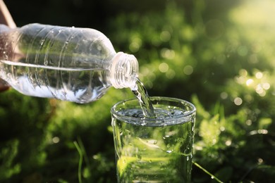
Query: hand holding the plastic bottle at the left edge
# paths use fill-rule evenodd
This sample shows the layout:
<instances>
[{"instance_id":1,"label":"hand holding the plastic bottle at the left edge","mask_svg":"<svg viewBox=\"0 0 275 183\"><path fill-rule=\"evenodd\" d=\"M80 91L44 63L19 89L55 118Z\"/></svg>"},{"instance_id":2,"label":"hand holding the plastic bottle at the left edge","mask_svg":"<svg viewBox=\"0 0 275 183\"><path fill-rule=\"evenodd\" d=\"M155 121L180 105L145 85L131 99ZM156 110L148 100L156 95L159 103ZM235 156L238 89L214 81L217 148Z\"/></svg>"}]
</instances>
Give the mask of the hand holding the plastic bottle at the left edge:
<instances>
[{"instance_id":1,"label":"hand holding the plastic bottle at the left edge","mask_svg":"<svg viewBox=\"0 0 275 183\"><path fill-rule=\"evenodd\" d=\"M0 24L7 25L11 28L16 27L16 23L14 23L11 13L8 11L8 8L3 0L0 0ZM0 78L0 92L5 91L6 89L8 89L8 84Z\"/></svg>"}]
</instances>

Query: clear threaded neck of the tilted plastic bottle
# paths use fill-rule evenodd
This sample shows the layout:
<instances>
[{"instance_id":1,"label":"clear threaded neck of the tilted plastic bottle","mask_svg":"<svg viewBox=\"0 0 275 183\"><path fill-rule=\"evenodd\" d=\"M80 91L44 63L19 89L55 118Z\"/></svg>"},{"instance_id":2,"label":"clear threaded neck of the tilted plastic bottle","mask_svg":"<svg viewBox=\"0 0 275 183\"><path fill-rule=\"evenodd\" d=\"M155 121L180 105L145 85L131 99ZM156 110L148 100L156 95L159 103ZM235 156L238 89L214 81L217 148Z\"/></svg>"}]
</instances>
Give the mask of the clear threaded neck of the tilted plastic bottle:
<instances>
[{"instance_id":1,"label":"clear threaded neck of the tilted plastic bottle","mask_svg":"<svg viewBox=\"0 0 275 183\"><path fill-rule=\"evenodd\" d=\"M135 56L118 52L111 61L110 81L116 89L134 87L138 77L138 60Z\"/></svg>"}]
</instances>

